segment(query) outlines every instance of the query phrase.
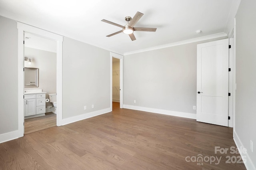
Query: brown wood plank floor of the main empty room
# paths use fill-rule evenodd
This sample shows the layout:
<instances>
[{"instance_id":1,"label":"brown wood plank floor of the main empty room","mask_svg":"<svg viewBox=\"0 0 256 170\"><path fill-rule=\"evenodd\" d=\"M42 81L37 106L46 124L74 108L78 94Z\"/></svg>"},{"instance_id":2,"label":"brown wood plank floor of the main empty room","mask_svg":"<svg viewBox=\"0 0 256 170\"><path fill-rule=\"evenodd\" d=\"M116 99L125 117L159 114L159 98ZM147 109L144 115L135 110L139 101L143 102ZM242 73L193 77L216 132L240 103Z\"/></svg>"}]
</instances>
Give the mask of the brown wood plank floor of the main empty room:
<instances>
[{"instance_id":1,"label":"brown wood plank floor of the main empty room","mask_svg":"<svg viewBox=\"0 0 256 170\"><path fill-rule=\"evenodd\" d=\"M244 170L214 147L236 146L232 128L129 109L0 144L1 170ZM202 156L202 162L198 158ZM227 156L227 158L226 158ZM210 162L208 158L220 159ZM198 160L198 162L197 162Z\"/></svg>"}]
</instances>

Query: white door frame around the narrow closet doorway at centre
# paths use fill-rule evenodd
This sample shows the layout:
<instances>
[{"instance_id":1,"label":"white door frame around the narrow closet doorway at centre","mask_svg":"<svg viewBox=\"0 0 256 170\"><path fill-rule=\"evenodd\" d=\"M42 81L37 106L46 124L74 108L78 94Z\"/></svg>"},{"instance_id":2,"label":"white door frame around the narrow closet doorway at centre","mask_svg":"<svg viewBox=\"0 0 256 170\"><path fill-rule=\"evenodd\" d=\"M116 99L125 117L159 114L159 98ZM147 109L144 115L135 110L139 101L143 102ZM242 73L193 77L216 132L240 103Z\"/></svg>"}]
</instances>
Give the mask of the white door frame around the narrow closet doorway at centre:
<instances>
[{"instance_id":1,"label":"white door frame around the narrow closet doorway at centre","mask_svg":"<svg viewBox=\"0 0 256 170\"><path fill-rule=\"evenodd\" d=\"M124 55L120 55L117 53L110 52L110 109L113 110L112 107L112 57L120 59L120 108L124 108Z\"/></svg>"}]
</instances>

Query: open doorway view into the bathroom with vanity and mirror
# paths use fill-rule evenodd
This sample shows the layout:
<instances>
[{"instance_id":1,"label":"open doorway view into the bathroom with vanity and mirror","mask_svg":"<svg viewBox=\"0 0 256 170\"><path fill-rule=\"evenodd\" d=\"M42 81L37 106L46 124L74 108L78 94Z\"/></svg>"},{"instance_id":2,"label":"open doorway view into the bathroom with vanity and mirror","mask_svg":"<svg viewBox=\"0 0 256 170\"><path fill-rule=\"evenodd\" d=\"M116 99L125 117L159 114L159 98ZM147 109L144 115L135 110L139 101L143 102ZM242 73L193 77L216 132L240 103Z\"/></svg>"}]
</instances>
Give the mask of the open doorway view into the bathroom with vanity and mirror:
<instances>
[{"instance_id":1,"label":"open doorway view into the bathroom with vanity and mirror","mask_svg":"<svg viewBox=\"0 0 256 170\"><path fill-rule=\"evenodd\" d=\"M36 98L42 100L38 106L38 99L31 98L30 95L24 95L24 134L29 134L39 130L56 126L56 110L53 103L49 102L49 94L56 92L56 41L42 38L28 32L24 32L24 92L43 91L42 97ZM37 86L31 86L30 81L26 79L33 78L33 75L28 74L26 69L37 69ZM35 106L35 105L36 106ZM30 107L28 107L30 106ZM30 108L30 114L28 114ZM35 110L35 111L34 111ZM54 113L55 114L54 114Z\"/></svg>"}]
</instances>

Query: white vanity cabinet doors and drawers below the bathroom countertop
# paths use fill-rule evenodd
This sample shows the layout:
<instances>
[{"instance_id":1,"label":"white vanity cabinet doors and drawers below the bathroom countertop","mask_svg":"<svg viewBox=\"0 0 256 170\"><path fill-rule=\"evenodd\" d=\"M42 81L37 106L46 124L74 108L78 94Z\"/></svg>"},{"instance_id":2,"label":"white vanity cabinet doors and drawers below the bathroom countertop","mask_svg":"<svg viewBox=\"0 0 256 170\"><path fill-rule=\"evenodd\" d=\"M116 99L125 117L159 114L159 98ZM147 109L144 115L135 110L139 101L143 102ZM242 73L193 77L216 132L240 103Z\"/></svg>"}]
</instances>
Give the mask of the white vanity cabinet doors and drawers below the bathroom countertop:
<instances>
[{"instance_id":1,"label":"white vanity cabinet doors and drawers below the bathroom countertop","mask_svg":"<svg viewBox=\"0 0 256 170\"><path fill-rule=\"evenodd\" d=\"M45 93L24 95L24 116L25 119L32 115L45 113ZM28 117L29 116L29 117Z\"/></svg>"}]
</instances>

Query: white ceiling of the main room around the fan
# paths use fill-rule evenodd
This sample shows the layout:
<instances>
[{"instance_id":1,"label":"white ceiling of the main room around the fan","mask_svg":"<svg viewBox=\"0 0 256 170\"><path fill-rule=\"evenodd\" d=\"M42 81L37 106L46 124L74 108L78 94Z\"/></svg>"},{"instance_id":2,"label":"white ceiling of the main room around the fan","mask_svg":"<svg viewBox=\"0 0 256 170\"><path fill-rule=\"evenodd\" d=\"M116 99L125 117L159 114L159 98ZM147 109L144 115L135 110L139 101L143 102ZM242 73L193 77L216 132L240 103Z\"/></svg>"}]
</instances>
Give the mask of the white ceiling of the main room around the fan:
<instances>
[{"instance_id":1,"label":"white ceiling of the main room around the fan","mask_svg":"<svg viewBox=\"0 0 256 170\"><path fill-rule=\"evenodd\" d=\"M230 34L240 0L0 0L0 15L109 51L126 54L204 36ZM135 27L156 32L109 34L125 25L126 16L144 16ZM196 34L196 30L202 30Z\"/></svg>"}]
</instances>

